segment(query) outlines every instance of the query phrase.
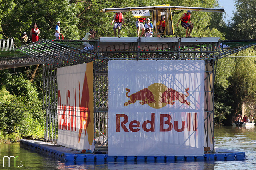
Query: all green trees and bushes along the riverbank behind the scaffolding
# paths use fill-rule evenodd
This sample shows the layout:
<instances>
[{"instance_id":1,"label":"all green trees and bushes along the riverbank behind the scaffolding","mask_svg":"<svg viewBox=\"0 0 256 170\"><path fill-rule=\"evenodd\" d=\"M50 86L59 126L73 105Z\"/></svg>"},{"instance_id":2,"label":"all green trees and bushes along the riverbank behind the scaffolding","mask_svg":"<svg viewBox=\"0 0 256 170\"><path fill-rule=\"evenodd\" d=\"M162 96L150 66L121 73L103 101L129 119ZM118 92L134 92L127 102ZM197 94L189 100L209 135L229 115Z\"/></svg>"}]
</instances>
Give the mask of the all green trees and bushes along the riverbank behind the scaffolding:
<instances>
[{"instance_id":1,"label":"all green trees and bushes along the riverbank behind the scaffolding","mask_svg":"<svg viewBox=\"0 0 256 170\"><path fill-rule=\"evenodd\" d=\"M217 0L150 1L150 5L221 8ZM251 5L251 6L250 6ZM64 39L82 39L89 29L97 37L112 37L114 13L102 13L102 8L148 6L141 0L3 0L0 3L0 39L14 38L21 45L21 33L28 35L33 23L40 29L40 39L54 39L57 21ZM237 12L228 24L222 15L212 12L192 12L194 37L225 39L256 39L252 1L236 0ZM185 29L176 27L184 11L173 11L175 36L184 37ZM132 12L123 12L126 27L122 37L136 37L136 19ZM215 81L215 123L230 125L235 114L255 113L256 51L246 49L218 61ZM36 71L35 71L36 70ZM255 115L255 114L254 114ZM43 137L42 70L40 66L0 70L0 140L15 141L22 136Z\"/></svg>"}]
</instances>

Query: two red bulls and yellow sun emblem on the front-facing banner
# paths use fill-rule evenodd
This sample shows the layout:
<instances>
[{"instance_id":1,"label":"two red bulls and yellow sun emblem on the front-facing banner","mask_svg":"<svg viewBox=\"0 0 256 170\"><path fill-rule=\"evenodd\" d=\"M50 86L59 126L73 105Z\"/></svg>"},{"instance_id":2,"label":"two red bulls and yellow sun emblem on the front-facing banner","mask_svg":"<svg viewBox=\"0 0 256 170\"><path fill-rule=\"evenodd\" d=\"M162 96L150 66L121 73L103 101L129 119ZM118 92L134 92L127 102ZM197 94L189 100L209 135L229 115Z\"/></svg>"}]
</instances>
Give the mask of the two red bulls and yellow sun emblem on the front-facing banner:
<instances>
[{"instance_id":1,"label":"two red bulls and yellow sun emblem on the front-facing banner","mask_svg":"<svg viewBox=\"0 0 256 170\"><path fill-rule=\"evenodd\" d=\"M183 94L172 88L167 88L164 84L154 83L148 86L148 88L144 88L131 95L128 95L130 89L126 88L125 90L127 91L126 97L130 98L130 100L125 102L124 106L134 104L136 101L140 101L141 105L148 104L155 109L160 109L167 104L173 105L177 101L188 106L190 105L190 102L187 101L189 88L186 88L186 94Z\"/></svg>"}]
</instances>

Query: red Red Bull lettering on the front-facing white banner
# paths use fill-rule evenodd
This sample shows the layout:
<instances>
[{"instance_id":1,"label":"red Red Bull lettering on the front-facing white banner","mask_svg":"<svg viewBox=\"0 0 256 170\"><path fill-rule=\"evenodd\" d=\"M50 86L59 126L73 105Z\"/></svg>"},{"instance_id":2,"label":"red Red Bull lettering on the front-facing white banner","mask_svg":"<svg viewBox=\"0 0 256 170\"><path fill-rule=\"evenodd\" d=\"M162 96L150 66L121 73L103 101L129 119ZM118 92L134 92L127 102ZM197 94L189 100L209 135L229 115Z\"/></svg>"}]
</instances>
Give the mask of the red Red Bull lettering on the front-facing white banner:
<instances>
[{"instance_id":1,"label":"red Red Bull lettering on the front-facing white banner","mask_svg":"<svg viewBox=\"0 0 256 170\"><path fill-rule=\"evenodd\" d=\"M122 120L121 120L122 117ZM194 113L193 120L193 131L196 131L198 121L197 121L197 113ZM174 128L174 131L182 132L187 127L188 131L191 131L191 113L187 113L187 120L183 120L181 122L174 120L174 124L171 122L172 117L170 114L159 114L159 131L160 132L168 132ZM140 122L138 120L132 120L128 123L129 118L126 114L116 114L116 132L120 132L120 128L123 129L124 132L138 132L141 129L145 132L154 132L155 131L155 113L151 113L151 120L146 120ZM141 125L142 124L142 125ZM150 125L150 128L147 128L147 125ZM181 124L181 128L180 127ZM128 130L129 129L129 130Z\"/></svg>"}]
</instances>

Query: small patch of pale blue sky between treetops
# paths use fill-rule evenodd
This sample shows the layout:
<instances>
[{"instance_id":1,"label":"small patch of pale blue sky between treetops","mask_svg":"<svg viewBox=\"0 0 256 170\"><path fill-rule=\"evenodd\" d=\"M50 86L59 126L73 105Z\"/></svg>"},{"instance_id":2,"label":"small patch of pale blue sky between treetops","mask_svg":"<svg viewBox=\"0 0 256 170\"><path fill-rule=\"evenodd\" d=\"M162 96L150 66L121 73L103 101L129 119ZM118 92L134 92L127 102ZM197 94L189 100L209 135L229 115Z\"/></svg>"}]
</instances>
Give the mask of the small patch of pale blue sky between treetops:
<instances>
[{"instance_id":1,"label":"small patch of pale blue sky between treetops","mask_svg":"<svg viewBox=\"0 0 256 170\"><path fill-rule=\"evenodd\" d=\"M218 0L220 6L222 6L222 8L224 8L225 12L226 12L226 18L225 14L223 14L223 19L226 23L228 23L228 20L230 20L233 16L233 11L235 11L235 7L234 7L234 0Z\"/></svg>"}]
</instances>

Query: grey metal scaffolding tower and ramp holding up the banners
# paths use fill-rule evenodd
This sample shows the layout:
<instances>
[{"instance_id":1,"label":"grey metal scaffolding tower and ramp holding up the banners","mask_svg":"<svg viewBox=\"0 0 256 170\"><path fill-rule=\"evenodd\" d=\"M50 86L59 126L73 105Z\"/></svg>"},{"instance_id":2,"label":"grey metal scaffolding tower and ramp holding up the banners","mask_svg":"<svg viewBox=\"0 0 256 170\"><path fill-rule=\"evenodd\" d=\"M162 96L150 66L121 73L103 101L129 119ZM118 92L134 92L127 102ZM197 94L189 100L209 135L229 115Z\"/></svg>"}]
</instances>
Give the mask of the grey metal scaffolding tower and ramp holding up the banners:
<instances>
[{"instance_id":1,"label":"grey metal scaffolding tower and ramp holding up the banners","mask_svg":"<svg viewBox=\"0 0 256 170\"><path fill-rule=\"evenodd\" d=\"M56 69L94 61L94 135L108 136L108 61L204 60L205 147L214 149L214 79L218 59L256 45L223 48L218 37L100 37L96 41L41 40L0 58L0 69L43 64L44 139L57 140ZM94 49L84 51L84 44ZM17 56L17 54L20 54Z\"/></svg>"}]
</instances>

